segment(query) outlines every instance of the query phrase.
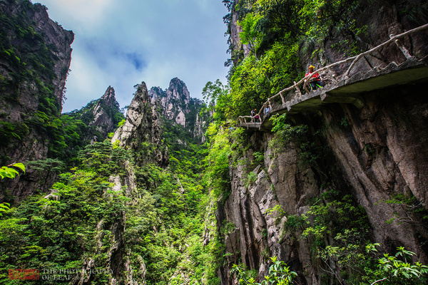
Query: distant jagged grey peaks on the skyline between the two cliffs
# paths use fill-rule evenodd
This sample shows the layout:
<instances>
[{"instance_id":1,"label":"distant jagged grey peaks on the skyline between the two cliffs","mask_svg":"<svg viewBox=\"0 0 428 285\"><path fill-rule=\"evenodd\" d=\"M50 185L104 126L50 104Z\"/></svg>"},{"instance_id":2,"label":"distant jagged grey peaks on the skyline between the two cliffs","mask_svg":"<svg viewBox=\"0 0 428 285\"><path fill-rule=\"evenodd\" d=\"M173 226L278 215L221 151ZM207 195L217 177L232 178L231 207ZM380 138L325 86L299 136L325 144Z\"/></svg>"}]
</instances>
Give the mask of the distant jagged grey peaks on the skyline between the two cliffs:
<instances>
[{"instance_id":1,"label":"distant jagged grey peaks on the skyline between the two cliffs","mask_svg":"<svg viewBox=\"0 0 428 285\"><path fill-rule=\"evenodd\" d=\"M146 83L141 83L137 86L136 95L128 106L128 112L130 109L133 110L131 115L128 115L129 118L139 119L138 116L143 115L145 112L134 109L140 108L142 103L151 102L155 120L163 118L173 125L182 125L183 128L193 133L194 138L203 140L206 123L202 118L206 120L207 116L200 115L203 102L197 98L190 97L188 88L183 81L173 78L170 81L169 88L166 90L160 87L152 87L148 91L149 98L144 95ZM82 120L89 127L95 127L95 130L90 130L86 138L91 140L92 143L106 139L108 133L116 130L118 123L125 119L116 101L115 90L111 86L108 86L106 93L101 98L91 101L81 110L73 110L64 115L71 115L75 119ZM128 135L134 131L124 130ZM116 139L118 138L116 137Z\"/></svg>"}]
</instances>

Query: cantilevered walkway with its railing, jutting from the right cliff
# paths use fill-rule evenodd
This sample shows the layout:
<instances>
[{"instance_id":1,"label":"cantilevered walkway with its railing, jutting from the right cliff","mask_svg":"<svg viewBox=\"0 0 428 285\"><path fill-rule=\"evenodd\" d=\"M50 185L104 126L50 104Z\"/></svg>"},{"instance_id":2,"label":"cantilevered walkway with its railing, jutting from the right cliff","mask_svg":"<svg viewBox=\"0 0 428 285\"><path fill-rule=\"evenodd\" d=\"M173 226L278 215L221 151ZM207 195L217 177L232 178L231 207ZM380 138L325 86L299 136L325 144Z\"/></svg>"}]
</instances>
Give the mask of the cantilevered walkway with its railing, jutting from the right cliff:
<instances>
[{"instance_id":1,"label":"cantilevered walkway with its railing, jutting from the right cliff","mask_svg":"<svg viewBox=\"0 0 428 285\"><path fill-rule=\"evenodd\" d=\"M238 125L247 129L270 130L270 128L272 128L270 117L273 114L317 112L320 106L329 103L351 103L357 108L363 108L365 101L360 97L361 93L427 81L428 58L418 59L412 56L399 42L399 38L408 36L417 31L422 31L426 28L428 28L428 24L419 26L418 28L414 28L397 36L390 35L388 41L370 49L370 51L365 51L358 56L353 56L344 61L338 61L337 63L330 64L330 66L317 69L314 73L329 71L330 68L335 66L352 62L342 76L335 78L333 82L327 84L324 88L312 91L308 90L307 85L310 81L310 75L305 76L305 78L302 78L299 82L295 82L289 88L285 88L280 91L280 93L267 99L258 112L261 122L256 122L255 118L251 116L240 116L238 118ZM360 58L374 53L374 51L390 43L396 43L397 47L406 57L406 61L399 64L392 62L384 68L374 67L367 73L357 73L350 77L352 68ZM303 90L301 91L299 86L302 84ZM302 92L305 94L302 94Z\"/></svg>"}]
</instances>

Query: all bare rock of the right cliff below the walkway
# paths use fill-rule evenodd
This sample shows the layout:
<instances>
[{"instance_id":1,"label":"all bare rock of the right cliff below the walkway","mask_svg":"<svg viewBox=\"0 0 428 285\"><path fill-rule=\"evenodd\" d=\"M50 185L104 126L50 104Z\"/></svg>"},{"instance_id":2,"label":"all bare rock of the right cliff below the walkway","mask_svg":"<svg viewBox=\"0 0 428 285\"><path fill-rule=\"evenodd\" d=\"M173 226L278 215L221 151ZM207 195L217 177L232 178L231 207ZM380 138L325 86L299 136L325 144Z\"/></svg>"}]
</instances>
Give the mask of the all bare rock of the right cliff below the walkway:
<instances>
[{"instance_id":1,"label":"all bare rock of the right cliff below the walkway","mask_svg":"<svg viewBox=\"0 0 428 285\"><path fill-rule=\"evenodd\" d=\"M405 247L426 263L427 224L412 211L412 207L428 209L428 148L424 143L428 100L421 87L367 93L362 110L351 104L332 104L322 108L321 117L297 115L297 122L311 125L314 132L325 126L322 143L333 154L310 167L302 162L295 145L273 155L267 145L272 135L254 133L243 160L253 160L255 151L265 152L264 162L253 170L257 180L246 185L247 166L230 167L232 192L224 206L218 207L219 227L224 219L236 226L225 236L226 252L233 255L228 257L228 266L220 269L223 284L233 284L228 272L239 260L259 269L260 276L267 274L270 256L280 257L300 272L299 284L322 284L322 271L311 258L311 244L298 238L302 232L295 232L295 237L284 234L283 225L287 216L305 214L310 200L329 180L364 207L372 242L382 244L383 250ZM340 125L343 118L346 127ZM399 195L414 197L413 204L386 202ZM280 220L266 213L277 204L287 213Z\"/></svg>"}]
</instances>

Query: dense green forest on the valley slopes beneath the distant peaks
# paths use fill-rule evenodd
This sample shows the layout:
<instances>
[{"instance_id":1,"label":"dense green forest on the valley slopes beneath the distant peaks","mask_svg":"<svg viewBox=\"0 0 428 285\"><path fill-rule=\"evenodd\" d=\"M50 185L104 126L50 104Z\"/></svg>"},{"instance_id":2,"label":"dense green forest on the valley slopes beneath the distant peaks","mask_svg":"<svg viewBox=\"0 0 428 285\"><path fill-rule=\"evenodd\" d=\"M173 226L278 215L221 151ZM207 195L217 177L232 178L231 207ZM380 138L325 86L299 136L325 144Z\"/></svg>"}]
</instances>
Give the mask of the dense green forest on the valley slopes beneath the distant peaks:
<instances>
[{"instance_id":1,"label":"dense green forest on the valley slopes beneath the distant peaks","mask_svg":"<svg viewBox=\"0 0 428 285\"><path fill-rule=\"evenodd\" d=\"M201 147L191 146L187 158ZM185 159L183 164L171 166L172 170L151 164L136 167L130 152L108 141L86 146L78 160L78 167L59 175L51 195L34 195L4 212L0 220L0 247L5 249L0 274L4 279L0 284L13 284L6 279L7 270L16 266L37 268L43 276L43 271L53 268L81 269L90 258L93 269L103 272L110 268L111 250L128 253L139 282L145 279L146 284L168 284L173 280L173 284L181 284L181 275L175 274L180 270L188 272L190 280L218 284L217 255L213 253L221 246L215 233L212 242L202 245L205 208L210 199L195 178L200 167L188 172ZM129 162L136 174L136 188L123 185L121 190L113 189L109 177L125 177ZM46 160L34 162L32 167L56 172L61 165ZM7 177L14 171L4 168ZM121 241L115 236L117 227L124 227L126 244L114 249ZM141 262L146 266L146 276L138 271ZM91 282L104 284L112 274L125 278L126 272L106 271L96 274Z\"/></svg>"}]
</instances>

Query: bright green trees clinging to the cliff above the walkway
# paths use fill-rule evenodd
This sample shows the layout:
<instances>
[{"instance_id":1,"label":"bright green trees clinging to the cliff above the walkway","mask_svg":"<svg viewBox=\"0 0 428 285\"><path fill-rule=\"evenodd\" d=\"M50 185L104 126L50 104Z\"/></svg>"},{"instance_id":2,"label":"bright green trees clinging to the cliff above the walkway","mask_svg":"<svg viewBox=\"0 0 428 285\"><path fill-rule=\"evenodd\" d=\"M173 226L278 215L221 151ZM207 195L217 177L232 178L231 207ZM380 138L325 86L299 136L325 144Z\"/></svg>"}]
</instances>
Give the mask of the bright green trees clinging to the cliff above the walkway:
<instances>
[{"instance_id":1,"label":"bright green trees clinging to the cliff above the walkway","mask_svg":"<svg viewBox=\"0 0 428 285\"><path fill-rule=\"evenodd\" d=\"M248 115L253 108L280 90L299 81L305 74L300 58L303 53L319 58L322 42L332 33L340 33L346 42L337 43L344 54L365 48L361 37L366 26L357 26L352 15L360 8L357 0L223 0L230 14L223 20L231 36L233 17L238 15L240 43L229 38L230 110L236 118ZM248 55L244 56L244 48ZM315 62L313 62L315 63ZM312 64L313 64L312 63ZM321 64L325 64L321 62ZM221 108L221 107L220 107Z\"/></svg>"}]
</instances>

